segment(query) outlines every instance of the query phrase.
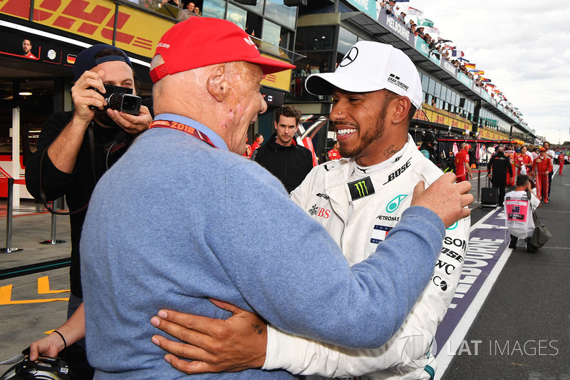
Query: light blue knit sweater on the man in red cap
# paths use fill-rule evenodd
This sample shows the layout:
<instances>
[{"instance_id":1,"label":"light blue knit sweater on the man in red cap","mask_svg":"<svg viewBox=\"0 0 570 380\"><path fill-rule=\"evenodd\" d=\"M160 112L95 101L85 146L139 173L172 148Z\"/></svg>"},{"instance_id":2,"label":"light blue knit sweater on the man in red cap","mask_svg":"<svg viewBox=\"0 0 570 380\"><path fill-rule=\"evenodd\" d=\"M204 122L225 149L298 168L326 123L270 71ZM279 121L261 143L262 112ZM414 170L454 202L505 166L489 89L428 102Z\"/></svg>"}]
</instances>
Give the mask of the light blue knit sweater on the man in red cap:
<instances>
[{"instance_id":1,"label":"light blue knit sweater on the man in red cap","mask_svg":"<svg viewBox=\"0 0 570 380\"><path fill-rule=\"evenodd\" d=\"M287 332L378 347L425 288L445 235L433 212L410 207L377 253L350 268L279 180L218 146L179 130L147 130L95 188L81 272L96 379L289 379L262 370L185 376L150 342L164 334L150 318L162 308L229 317L213 297Z\"/></svg>"}]
</instances>

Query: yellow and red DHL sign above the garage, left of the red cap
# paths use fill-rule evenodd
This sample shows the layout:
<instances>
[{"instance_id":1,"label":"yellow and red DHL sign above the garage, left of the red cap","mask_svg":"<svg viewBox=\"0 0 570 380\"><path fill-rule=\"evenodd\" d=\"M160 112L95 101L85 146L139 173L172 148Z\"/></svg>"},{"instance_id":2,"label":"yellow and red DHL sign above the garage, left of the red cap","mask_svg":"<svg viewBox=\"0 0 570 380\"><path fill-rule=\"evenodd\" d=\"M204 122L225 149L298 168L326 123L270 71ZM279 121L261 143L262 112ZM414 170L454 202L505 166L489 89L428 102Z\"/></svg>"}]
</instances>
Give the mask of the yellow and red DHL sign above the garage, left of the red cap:
<instances>
[{"instance_id":1,"label":"yellow and red DHL sign above the garage, left of the red cap","mask_svg":"<svg viewBox=\"0 0 570 380\"><path fill-rule=\"evenodd\" d=\"M0 13L28 19L31 1L0 0ZM116 18L116 29L115 29ZM125 51L152 57L162 34L174 21L167 21L130 6L108 0L36 0L33 22L68 31Z\"/></svg>"}]
</instances>

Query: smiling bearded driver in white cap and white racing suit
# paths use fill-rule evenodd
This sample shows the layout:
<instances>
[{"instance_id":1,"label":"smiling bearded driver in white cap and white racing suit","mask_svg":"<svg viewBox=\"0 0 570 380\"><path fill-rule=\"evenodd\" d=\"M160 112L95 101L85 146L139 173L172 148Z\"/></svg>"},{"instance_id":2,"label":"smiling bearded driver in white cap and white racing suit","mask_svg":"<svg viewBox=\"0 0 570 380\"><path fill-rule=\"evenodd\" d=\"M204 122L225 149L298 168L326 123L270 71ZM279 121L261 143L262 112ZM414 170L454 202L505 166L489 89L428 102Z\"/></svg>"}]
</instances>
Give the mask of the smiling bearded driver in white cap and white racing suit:
<instances>
[{"instance_id":1,"label":"smiling bearded driver in white cap and white racing suit","mask_svg":"<svg viewBox=\"0 0 570 380\"><path fill-rule=\"evenodd\" d=\"M410 120L422 103L420 77L412 61L398 49L361 41L348 51L334 73L309 76L306 88L315 95L332 94L330 118L345 158L311 170L299 188L291 192L291 198L328 230L353 265L375 252L378 242L400 220L410 207L418 181L427 186L442 175L408 134ZM308 375L309 379L433 378L434 335L457 288L469 231L469 217L447 229L432 280L385 345L378 349L345 349L268 326L263 369L286 369ZM410 252L411 260L414 252ZM193 339L192 343L199 346ZM234 351L246 352L251 343L239 342L242 349L234 347ZM175 353L165 344L160 339L161 347ZM213 353L217 359L223 356ZM240 363L244 362L248 361ZM228 368L218 366L215 370Z\"/></svg>"}]
</instances>

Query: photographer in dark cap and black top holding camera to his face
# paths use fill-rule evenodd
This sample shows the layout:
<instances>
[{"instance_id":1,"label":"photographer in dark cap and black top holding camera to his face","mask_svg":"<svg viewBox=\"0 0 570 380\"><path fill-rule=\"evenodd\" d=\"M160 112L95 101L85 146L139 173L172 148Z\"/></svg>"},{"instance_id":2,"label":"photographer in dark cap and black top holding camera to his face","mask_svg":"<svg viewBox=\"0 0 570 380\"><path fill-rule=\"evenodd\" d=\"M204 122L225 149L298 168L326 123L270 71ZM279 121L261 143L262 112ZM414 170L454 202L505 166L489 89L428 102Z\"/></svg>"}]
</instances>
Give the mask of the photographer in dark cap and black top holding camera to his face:
<instances>
[{"instance_id":1,"label":"photographer in dark cap and black top holding camera to his face","mask_svg":"<svg viewBox=\"0 0 570 380\"><path fill-rule=\"evenodd\" d=\"M26 187L33 197L46 202L66 195L71 224L68 318L83 299L79 240L95 183L125 153L135 135L152 122L147 107L140 106L137 111L135 104L130 108L140 98L130 96L125 102L130 108L126 111L138 113L135 115L111 109L105 100L120 108L115 100L123 96L113 93L111 98L108 90L136 95L133 65L120 49L105 44L87 48L77 56L73 76L73 111L48 118L38 138L38 150L26 165Z\"/></svg>"}]
</instances>

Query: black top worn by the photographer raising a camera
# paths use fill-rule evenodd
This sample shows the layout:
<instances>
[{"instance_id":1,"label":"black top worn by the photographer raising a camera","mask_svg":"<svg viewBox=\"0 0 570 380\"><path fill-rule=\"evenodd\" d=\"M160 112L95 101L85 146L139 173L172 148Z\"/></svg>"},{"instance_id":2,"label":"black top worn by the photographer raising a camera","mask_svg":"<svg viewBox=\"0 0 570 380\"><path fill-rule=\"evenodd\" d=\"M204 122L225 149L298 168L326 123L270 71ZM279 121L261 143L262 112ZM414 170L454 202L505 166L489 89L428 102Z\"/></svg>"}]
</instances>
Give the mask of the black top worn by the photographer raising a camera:
<instances>
[{"instance_id":1,"label":"black top worn by the photographer raising a camera","mask_svg":"<svg viewBox=\"0 0 570 380\"><path fill-rule=\"evenodd\" d=\"M103 128L97 123L93 123L93 136L95 138L95 173L91 165L91 151L88 133L83 138L83 143L79 149L76 165L73 173L63 173L58 170L49 159L47 153L43 155L43 165L41 165L41 155L53 140L61 133L61 130L69 123L73 111L55 113L48 118L41 127L38 138L36 153L30 156L26 163L26 188L37 200L40 196L40 167L41 167L41 188L46 194L46 200L56 200L66 196L66 202L71 212L81 209L89 202L91 193L95 188L95 181L107 170L107 166L113 165L116 160L125 153L126 148L107 155L105 145L113 141L118 135L119 128ZM132 135L127 135L126 140L130 143ZM83 297L81 289L81 268L79 264L79 239L81 229L87 209L69 216L71 227L71 267L69 275L71 279L71 294L76 297Z\"/></svg>"}]
</instances>

